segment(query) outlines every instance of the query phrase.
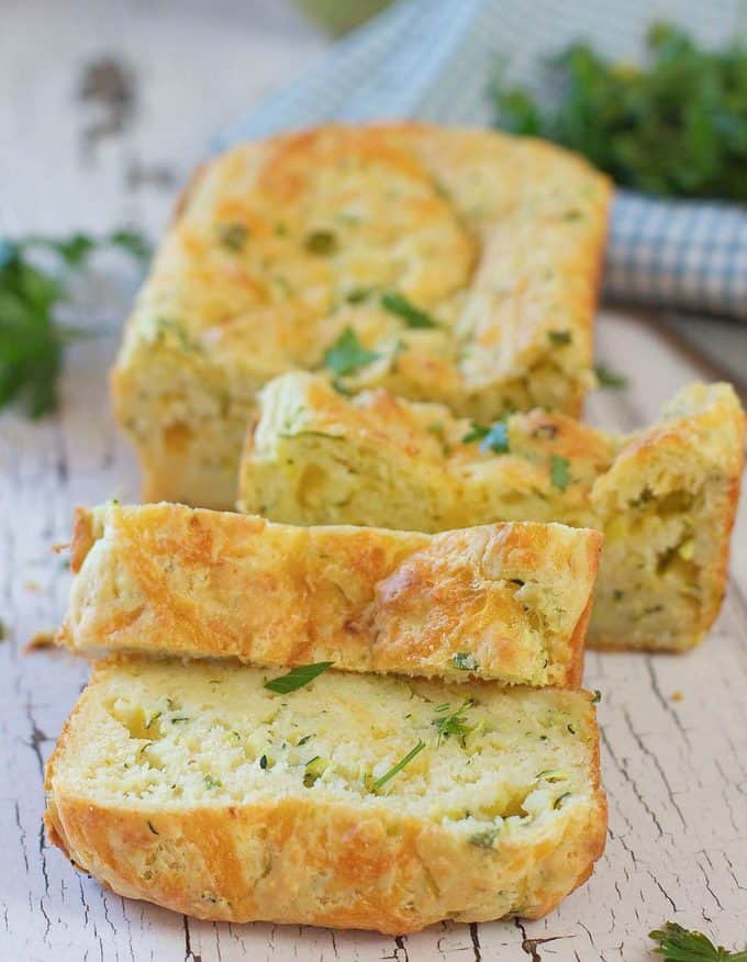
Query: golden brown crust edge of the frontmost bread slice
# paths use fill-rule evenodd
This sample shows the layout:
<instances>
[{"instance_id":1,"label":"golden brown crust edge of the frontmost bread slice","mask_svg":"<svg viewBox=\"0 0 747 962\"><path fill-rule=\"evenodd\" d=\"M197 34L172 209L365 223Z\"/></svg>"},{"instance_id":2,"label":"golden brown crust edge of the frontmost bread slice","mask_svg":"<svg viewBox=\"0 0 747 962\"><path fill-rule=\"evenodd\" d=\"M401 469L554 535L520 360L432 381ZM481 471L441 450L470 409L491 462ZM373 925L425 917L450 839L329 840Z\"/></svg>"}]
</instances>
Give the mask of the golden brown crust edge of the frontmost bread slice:
<instances>
[{"instance_id":1,"label":"golden brown crust edge of the frontmost bread slice","mask_svg":"<svg viewBox=\"0 0 747 962\"><path fill-rule=\"evenodd\" d=\"M98 671L91 689L97 678ZM104 802L66 775L86 737L89 689L47 764L47 836L116 893L202 919L402 933L444 918L538 918L589 877L604 848L593 706L589 693L573 696L584 694L583 794L560 810L550 806L556 810L534 827L504 828L486 847L448 819L323 796L192 806Z\"/></svg>"}]
</instances>

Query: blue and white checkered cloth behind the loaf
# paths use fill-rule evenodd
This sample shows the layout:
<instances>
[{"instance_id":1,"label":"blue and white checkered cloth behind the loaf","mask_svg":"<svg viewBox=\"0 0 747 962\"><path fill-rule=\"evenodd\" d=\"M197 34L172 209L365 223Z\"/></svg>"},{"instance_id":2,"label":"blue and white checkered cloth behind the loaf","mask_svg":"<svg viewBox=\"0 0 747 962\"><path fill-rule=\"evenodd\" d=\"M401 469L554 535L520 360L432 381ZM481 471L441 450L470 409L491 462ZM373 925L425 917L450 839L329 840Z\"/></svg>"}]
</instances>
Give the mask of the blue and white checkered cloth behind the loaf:
<instances>
[{"instance_id":1,"label":"blue and white checkered cloth behind the loaf","mask_svg":"<svg viewBox=\"0 0 747 962\"><path fill-rule=\"evenodd\" d=\"M543 59L572 41L635 61L656 18L722 44L738 30L738 7L739 0L400 0L266 98L215 146L326 120L490 124L486 94L498 57L508 58L509 82L540 94ZM747 320L747 211L617 191L605 292Z\"/></svg>"}]
</instances>

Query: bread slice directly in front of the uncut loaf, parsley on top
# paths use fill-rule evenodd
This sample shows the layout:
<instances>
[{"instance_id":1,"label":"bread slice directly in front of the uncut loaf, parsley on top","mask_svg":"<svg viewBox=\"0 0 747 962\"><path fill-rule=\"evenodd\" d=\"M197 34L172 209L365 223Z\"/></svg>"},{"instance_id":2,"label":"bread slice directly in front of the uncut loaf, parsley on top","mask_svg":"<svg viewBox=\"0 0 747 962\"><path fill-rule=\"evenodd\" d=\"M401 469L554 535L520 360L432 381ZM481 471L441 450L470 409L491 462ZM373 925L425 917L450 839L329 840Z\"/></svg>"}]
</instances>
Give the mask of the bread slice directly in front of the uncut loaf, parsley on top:
<instances>
[{"instance_id":1,"label":"bread slice directly in front of the uncut loaf, parsley on top","mask_svg":"<svg viewBox=\"0 0 747 962\"><path fill-rule=\"evenodd\" d=\"M438 532L531 519L604 533L588 644L680 650L726 583L745 416L728 384L692 384L627 437L562 414L488 428L384 391L347 398L290 373L260 395L241 470L244 511L291 524Z\"/></svg>"}]
</instances>

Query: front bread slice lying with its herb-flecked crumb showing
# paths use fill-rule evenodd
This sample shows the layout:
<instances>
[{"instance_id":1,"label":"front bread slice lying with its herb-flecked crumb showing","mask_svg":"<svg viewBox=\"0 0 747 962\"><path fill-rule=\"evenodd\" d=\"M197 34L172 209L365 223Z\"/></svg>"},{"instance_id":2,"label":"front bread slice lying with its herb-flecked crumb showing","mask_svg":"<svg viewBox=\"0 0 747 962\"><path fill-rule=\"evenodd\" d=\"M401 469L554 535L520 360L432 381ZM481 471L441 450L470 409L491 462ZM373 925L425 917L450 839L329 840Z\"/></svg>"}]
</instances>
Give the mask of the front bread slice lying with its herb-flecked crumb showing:
<instances>
[{"instance_id":1,"label":"front bread slice lying with its herb-flecked crumb showing","mask_svg":"<svg viewBox=\"0 0 747 962\"><path fill-rule=\"evenodd\" d=\"M587 692L331 671L279 695L266 676L102 663L47 767L52 840L199 918L393 933L536 918L591 873L606 804Z\"/></svg>"}]
</instances>

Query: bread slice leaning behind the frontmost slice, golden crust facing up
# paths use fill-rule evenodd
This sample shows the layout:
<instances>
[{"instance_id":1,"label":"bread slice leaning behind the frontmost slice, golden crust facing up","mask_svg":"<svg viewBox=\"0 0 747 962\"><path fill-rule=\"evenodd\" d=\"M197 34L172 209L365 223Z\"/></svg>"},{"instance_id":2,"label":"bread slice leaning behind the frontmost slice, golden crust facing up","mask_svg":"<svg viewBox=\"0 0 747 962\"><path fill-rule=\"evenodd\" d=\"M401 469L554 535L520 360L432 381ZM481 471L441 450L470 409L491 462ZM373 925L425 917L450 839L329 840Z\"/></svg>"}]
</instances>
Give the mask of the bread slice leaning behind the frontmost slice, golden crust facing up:
<instances>
[{"instance_id":1,"label":"bread slice leaning behind the frontmost slice, golden crust facing up","mask_svg":"<svg viewBox=\"0 0 747 962\"><path fill-rule=\"evenodd\" d=\"M601 540L562 525L426 535L177 504L80 508L60 639L575 686Z\"/></svg>"}]
</instances>

